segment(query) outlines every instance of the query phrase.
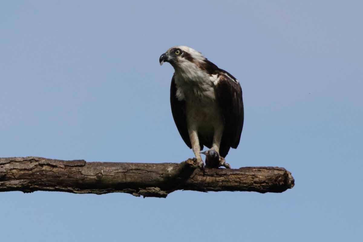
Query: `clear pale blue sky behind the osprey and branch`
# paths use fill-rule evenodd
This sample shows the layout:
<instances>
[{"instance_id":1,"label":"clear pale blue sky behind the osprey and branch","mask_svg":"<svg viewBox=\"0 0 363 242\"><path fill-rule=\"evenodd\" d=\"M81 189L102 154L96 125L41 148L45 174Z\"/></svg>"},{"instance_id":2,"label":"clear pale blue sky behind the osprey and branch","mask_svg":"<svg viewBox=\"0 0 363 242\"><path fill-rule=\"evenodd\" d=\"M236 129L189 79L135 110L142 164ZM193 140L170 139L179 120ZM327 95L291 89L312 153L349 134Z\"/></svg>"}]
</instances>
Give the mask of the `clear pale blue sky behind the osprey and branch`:
<instances>
[{"instance_id":1,"label":"clear pale blue sky behind the osprey and branch","mask_svg":"<svg viewBox=\"0 0 363 242\"><path fill-rule=\"evenodd\" d=\"M172 119L187 45L241 83L232 168L284 193L167 198L0 193L0 241L362 241L362 1L0 1L0 157L181 162Z\"/></svg>"}]
</instances>

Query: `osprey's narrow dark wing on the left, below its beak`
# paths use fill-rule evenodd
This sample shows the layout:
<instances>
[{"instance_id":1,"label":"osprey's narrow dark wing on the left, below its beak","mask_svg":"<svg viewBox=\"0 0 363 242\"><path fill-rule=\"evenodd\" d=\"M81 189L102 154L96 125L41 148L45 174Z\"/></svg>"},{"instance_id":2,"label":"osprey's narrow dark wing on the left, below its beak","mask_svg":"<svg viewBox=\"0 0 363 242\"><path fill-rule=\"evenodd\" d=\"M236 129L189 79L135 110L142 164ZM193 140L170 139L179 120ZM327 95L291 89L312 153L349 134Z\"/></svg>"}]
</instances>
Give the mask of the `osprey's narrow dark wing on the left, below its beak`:
<instances>
[{"instance_id":1,"label":"osprey's narrow dark wing on the left, below its beak","mask_svg":"<svg viewBox=\"0 0 363 242\"><path fill-rule=\"evenodd\" d=\"M187 128L185 101L179 101L178 98L176 98L176 85L174 75L171 79L170 86L170 105L171 113L173 114L174 122L176 124L176 127L178 128L181 138L183 138L185 144L187 144L189 148L192 148Z\"/></svg>"}]
</instances>

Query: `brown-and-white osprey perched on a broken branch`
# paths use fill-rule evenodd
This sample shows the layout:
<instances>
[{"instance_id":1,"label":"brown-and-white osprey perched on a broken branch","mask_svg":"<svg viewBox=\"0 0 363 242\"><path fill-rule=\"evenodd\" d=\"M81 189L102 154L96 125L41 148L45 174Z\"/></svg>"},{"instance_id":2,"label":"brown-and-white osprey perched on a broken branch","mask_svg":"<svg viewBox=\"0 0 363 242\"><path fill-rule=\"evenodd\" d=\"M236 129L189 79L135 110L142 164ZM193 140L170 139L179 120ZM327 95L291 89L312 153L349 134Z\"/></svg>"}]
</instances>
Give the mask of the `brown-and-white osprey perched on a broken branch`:
<instances>
[{"instance_id":1,"label":"brown-and-white osprey perched on a broken branch","mask_svg":"<svg viewBox=\"0 0 363 242\"><path fill-rule=\"evenodd\" d=\"M174 67L171 112L181 138L193 149L199 167L204 168L200 155L204 145L219 154L219 163L213 167L226 166L224 157L231 147L237 148L243 127L240 83L187 46L168 49L159 62L160 65L169 62Z\"/></svg>"}]
</instances>

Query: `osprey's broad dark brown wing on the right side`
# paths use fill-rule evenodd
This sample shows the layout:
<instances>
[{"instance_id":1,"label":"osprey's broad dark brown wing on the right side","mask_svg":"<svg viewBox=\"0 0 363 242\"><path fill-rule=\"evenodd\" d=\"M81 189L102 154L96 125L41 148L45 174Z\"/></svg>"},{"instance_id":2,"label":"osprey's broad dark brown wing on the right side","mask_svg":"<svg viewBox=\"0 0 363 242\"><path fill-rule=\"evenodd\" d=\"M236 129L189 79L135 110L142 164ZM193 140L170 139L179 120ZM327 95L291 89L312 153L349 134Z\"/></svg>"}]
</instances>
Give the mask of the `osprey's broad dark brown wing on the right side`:
<instances>
[{"instance_id":1,"label":"osprey's broad dark brown wing on the right side","mask_svg":"<svg viewBox=\"0 0 363 242\"><path fill-rule=\"evenodd\" d=\"M224 117L224 131L219 154L225 157L229 149L237 148L243 127L243 101L240 83L227 71L219 69L213 74L219 75L216 86L216 99Z\"/></svg>"}]
</instances>

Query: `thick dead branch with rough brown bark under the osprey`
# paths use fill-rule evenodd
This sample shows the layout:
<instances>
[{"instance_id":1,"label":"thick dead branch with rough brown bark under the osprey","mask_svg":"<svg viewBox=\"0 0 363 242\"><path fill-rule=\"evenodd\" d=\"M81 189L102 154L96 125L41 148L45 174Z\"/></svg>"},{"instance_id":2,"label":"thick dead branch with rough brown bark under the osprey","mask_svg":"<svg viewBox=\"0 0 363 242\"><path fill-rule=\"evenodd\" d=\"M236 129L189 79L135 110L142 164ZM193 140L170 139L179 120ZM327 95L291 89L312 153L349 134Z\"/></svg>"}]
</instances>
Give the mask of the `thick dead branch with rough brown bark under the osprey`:
<instances>
[{"instance_id":1,"label":"thick dead branch with rough brown bark under the osprey","mask_svg":"<svg viewBox=\"0 0 363 242\"><path fill-rule=\"evenodd\" d=\"M175 190L284 192L293 188L289 171L279 167L208 169L182 163L111 163L53 160L41 157L0 158L0 192L62 191L166 197Z\"/></svg>"}]
</instances>

